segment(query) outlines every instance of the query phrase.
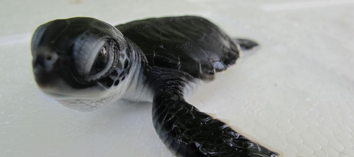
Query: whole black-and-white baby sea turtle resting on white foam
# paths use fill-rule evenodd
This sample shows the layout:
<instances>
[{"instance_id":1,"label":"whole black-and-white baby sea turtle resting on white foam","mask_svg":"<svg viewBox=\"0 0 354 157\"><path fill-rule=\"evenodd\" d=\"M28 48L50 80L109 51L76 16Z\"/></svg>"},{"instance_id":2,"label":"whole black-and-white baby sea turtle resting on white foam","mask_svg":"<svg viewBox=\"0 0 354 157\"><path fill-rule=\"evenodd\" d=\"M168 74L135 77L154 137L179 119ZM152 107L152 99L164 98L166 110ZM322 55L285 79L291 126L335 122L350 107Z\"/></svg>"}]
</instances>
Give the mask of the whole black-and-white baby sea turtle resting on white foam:
<instances>
[{"instance_id":1,"label":"whole black-and-white baby sea turtle resting on white foam","mask_svg":"<svg viewBox=\"0 0 354 157\"><path fill-rule=\"evenodd\" d=\"M184 99L199 81L235 64L240 50L256 45L198 16L118 26L74 17L39 26L31 50L38 86L65 107L91 111L118 99L153 102L154 128L173 155L274 157L279 153Z\"/></svg>"}]
</instances>

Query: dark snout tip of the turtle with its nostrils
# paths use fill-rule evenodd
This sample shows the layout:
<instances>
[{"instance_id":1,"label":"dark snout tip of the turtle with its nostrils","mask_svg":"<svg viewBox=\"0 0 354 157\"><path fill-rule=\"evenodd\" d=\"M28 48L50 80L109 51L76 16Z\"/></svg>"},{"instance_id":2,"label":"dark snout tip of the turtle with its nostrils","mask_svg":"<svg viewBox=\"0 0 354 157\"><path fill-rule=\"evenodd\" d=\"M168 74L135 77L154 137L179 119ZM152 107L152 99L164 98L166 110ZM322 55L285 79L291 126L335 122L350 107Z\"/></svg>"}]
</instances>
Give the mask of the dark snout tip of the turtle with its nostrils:
<instances>
[{"instance_id":1,"label":"dark snout tip of the turtle with its nostrils","mask_svg":"<svg viewBox=\"0 0 354 157\"><path fill-rule=\"evenodd\" d=\"M33 52L33 74L39 87L44 88L58 78L55 64L58 54L48 46L39 47Z\"/></svg>"}]
</instances>

